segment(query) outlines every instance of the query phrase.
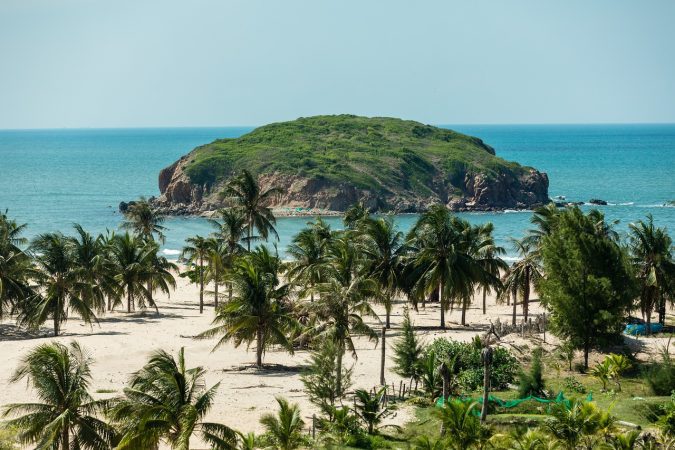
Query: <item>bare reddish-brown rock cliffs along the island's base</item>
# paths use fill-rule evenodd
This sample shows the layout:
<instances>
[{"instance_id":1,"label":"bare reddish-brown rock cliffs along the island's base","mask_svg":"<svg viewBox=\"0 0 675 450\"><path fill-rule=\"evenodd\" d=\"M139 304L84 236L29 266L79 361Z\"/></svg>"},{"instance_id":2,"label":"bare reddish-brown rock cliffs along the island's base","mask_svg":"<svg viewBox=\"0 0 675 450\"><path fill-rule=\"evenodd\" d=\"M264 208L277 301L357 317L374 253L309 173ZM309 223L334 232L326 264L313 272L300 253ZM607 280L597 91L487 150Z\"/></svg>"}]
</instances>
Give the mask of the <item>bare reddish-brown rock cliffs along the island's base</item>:
<instances>
[{"instance_id":1,"label":"bare reddish-brown rock cliffs along the island's base","mask_svg":"<svg viewBox=\"0 0 675 450\"><path fill-rule=\"evenodd\" d=\"M154 204L168 214L202 214L225 206L218 193L223 183L214 186L195 185L184 169L186 155L159 174L161 196ZM426 196L410 191L374 192L348 183L336 183L322 178L308 178L279 172L259 176L263 188L272 186L283 190L271 206L296 210L313 209L341 212L357 201L363 201L372 211L415 213L442 203L456 211L490 211L533 208L548 203L548 176L534 169L523 175L500 173L488 177L483 173L466 173L463 181L434 174L434 182ZM458 184L458 185L457 185Z\"/></svg>"}]
</instances>

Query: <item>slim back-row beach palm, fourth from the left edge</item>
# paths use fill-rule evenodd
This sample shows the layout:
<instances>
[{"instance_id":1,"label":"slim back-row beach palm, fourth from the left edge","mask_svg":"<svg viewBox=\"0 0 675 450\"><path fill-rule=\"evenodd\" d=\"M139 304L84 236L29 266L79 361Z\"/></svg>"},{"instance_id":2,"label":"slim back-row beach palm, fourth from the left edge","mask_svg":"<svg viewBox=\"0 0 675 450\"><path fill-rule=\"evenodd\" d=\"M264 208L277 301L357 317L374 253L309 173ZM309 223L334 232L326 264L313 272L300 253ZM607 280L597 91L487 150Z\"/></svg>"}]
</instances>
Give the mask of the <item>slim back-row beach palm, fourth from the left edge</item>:
<instances>
[{"instance_id":1,"label":"slim back-row beach palm, fourth from the left edge","mask_svg":"<svg viewBox=\"0 0 675 450\"><path fill-rule=\"evenodd\" d=\"M120 297L126 296L128 313L136 303L139 308L145 308L146 301L158 311L148 290L148 285L152 286L155 245L129 233L110 239L110 261Z\"/></svg>"}]
</instances>

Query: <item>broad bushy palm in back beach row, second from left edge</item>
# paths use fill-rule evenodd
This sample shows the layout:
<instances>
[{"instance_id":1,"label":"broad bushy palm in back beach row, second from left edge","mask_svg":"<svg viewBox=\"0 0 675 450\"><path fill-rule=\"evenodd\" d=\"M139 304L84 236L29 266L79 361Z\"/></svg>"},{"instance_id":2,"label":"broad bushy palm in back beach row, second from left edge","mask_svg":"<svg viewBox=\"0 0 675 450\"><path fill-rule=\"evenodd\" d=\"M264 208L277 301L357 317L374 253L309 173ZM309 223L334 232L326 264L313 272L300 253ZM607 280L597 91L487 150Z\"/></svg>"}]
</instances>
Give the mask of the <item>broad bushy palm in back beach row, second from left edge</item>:
<instances>
[{"instance_id":1,"label":"broad bushy palm in back beach row, second from left edge","mask_svg":"<svg viewBox=\"0 0 675 450\"><path fill-rule=\"evenodd\" d=\"M31 252L37 267L35 282L39 292L22 321L40 326L51 317L54 336L59 335L61 325L68 319L68 311L85 323L98 322L91 305L82 297L88 287L78 272L71 240L61 233L41 234L31 243Z\"/></svg>"}]
</instances>

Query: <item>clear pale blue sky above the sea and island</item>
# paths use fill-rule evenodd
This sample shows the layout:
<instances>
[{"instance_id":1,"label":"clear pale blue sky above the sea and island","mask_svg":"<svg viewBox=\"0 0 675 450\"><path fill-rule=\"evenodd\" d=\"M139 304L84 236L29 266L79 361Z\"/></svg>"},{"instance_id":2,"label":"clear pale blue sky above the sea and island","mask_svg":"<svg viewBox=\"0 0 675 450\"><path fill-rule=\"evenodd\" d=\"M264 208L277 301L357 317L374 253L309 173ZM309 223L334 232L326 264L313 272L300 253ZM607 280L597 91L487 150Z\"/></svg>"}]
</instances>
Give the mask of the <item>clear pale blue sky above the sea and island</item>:
<instances>
[{"instance_id":1,"label":"clear pale blue sky above the sea and island","mask_svg":"<svg viewBox=\"0 0 675 450\"><path fill-rule=\"evenodd\" d=\"M673 0L2 0L0 128L675 122Z\"/></svg>"}]
</instances>

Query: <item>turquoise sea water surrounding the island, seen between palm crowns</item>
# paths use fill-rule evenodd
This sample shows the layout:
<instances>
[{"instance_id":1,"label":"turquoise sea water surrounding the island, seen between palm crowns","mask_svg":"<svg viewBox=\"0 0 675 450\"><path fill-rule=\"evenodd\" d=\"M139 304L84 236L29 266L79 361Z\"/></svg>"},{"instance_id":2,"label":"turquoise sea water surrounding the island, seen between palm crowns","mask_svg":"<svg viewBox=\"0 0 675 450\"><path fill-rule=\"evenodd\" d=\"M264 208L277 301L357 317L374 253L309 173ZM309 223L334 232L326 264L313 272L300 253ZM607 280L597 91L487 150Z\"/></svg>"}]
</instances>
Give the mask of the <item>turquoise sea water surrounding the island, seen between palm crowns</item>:
<instances>
[{"instance_id":1,"label":"turquoise sea water surrounding the island, seen between palm crowns","mask_svg":"<svg viewBox=\"0 0 675 450\"><path fill-rule=\"evenodd\" d=\"M547 172L551 197L607 200L601 209L630 222L652 214L675 235L675 124L671 125L444 125L482 138L497 155ZM79 223L91 232L117 229L118 204L158 195L157 175L197 145L237 137L252 128L0 130L0 209L28 224L27 236ZM473 223L491 221L497 241L513 258L510 237L529 226L528 211L462 213ZM397 223L409 229L416 217ZM309 218L280 218L277 243L285 248ZM328 218L340 227L339 218ZM163 252L179 253L186 237L211 232L200 218L170 218Z\"/></svg>"}]
</instances>

